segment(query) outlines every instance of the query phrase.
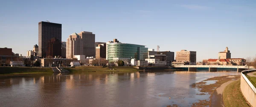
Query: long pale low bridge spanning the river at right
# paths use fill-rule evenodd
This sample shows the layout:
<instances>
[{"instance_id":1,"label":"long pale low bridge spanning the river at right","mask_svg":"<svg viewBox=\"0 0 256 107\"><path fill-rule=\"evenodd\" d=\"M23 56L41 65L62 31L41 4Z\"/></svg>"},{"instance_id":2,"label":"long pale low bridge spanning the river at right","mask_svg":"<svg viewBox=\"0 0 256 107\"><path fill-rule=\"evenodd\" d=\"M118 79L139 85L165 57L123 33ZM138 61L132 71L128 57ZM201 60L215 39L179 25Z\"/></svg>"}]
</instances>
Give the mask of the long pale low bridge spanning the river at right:
<instances>
[{"instance_id":1,"label":"long pale low bridge spanning the river at right","mask_svg":"<svg viewBox=\"0 0 256 107\"><path fill-rule=\"evenodd\" d=\"M222 66L222 65L182 65L182 66L173 66L174 68L188 68L189 71L196 71L197 68L209 68L210 71L217 71L217 68L229 68L237 69L237 72L243 71L245 66ZM248 66L247 66L248 69ZM250 66L250 69L255 69L253 66Z\"/></svg>"}]
</instances>

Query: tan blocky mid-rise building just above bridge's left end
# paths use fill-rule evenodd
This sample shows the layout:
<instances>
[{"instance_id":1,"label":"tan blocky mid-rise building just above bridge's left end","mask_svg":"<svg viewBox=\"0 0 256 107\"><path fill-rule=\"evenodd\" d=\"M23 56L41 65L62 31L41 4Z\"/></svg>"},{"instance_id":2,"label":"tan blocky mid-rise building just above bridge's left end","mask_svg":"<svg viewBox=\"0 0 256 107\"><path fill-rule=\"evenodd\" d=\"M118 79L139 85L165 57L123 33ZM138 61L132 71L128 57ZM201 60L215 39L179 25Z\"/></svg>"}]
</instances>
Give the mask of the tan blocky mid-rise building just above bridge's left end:
<instances>
[{"instance_id":1,"label":"tan blocky mid-rise building just above bridge's left end","mask_svg":"<svg viewBox=\"0 0 256 107\"><path fill-rule=\"evenodd\" d=\"M196 65L196 51L181 50L176 52L176 62L189 62L190 65Z\"/></svg>"}]
</instances>

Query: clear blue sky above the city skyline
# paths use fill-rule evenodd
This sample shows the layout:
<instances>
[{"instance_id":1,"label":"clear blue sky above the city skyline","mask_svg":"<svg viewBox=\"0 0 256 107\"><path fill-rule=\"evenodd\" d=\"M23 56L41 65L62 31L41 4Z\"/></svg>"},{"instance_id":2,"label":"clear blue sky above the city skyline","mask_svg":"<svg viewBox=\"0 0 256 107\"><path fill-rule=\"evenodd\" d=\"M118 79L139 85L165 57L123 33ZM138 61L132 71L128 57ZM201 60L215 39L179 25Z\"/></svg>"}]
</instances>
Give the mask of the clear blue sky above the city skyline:
<instances>
[{"instance_id":1,"label":"clear blue sky above the city skyline","mask_svg":"<svg viewBox=\"0 0 256 107\"><path fill-rule=\"evenodd\" d=\"M62 41L90 31L96 41L113 38L173 52L197 51L197 61L256 55L256 0L4 0L0 47L26 55L38 44L38 22L62 24Z\"/></svg>"}]
</instances>

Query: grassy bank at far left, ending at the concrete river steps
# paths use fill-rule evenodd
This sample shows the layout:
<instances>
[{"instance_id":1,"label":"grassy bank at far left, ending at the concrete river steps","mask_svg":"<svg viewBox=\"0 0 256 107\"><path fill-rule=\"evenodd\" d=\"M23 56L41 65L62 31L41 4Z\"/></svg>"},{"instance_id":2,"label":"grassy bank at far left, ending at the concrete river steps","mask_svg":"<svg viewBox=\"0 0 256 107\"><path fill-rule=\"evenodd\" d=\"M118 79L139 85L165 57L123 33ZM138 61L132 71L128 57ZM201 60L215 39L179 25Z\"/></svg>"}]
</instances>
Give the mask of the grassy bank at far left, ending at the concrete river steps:
<instances>
[{"instance_id":1,"label":"grassy bank at far left, ending at the concrete river steps","mask_svg":"<svg viewBox=\"0 0 256 107\"><path fill-rule=\"evenodd\" d=\"M51 68L0 67L0 74L36 74L52 72Z\"/></svg>"}]
</instances>

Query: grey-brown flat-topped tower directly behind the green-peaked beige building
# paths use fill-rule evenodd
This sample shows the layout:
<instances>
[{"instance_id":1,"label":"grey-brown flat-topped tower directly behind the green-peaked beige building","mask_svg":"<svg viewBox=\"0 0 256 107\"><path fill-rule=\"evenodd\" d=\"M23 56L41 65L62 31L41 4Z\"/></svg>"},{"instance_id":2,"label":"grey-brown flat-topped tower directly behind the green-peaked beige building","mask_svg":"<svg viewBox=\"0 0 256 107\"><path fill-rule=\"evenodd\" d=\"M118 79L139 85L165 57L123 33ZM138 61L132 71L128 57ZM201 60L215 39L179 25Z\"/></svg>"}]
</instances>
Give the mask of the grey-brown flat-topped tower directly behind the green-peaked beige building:
<instances>
[{"instance_id":1,"label":"grey-brown flat-topped tower directly behind the green-peaked beige building","mask_svg":"<svg viewBox=\"0 0 256 107\"><path fill-rule=\"evenodd\" d=\"M78 35L81 36L84 44L82 55L85 55L85 57L95 57L95 34L82 31Z\"/></svg>"}]
</instances>

